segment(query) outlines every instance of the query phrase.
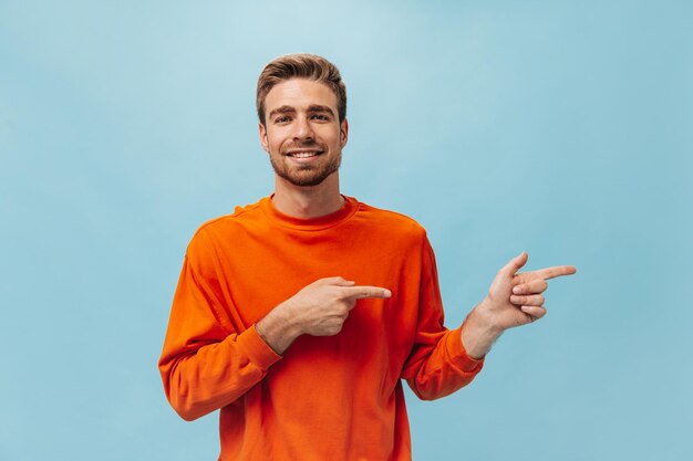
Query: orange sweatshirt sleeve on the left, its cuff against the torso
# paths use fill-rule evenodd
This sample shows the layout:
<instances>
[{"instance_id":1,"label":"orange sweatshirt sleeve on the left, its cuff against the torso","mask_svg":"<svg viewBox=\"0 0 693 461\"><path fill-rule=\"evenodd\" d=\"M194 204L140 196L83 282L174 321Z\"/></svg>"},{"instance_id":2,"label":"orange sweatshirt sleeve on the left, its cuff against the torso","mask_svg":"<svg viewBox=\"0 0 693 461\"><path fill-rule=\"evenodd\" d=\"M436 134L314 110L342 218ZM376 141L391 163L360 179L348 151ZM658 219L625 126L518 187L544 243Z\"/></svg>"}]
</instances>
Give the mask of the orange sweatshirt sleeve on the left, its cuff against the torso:
<instances>
[{"instance_id":1,"label":"orange sweatshirt sleeve on the left, its cuff against the torso","mask_svg":"<svg viewBox=\"0 0 693 461\"><path fill-rule=\"evenodd\" d=\"M228 308L186 255L158 366L173 408L199 418L242 396L281 357L255 326L234 328Z\"/></svg>"}]
</instances>

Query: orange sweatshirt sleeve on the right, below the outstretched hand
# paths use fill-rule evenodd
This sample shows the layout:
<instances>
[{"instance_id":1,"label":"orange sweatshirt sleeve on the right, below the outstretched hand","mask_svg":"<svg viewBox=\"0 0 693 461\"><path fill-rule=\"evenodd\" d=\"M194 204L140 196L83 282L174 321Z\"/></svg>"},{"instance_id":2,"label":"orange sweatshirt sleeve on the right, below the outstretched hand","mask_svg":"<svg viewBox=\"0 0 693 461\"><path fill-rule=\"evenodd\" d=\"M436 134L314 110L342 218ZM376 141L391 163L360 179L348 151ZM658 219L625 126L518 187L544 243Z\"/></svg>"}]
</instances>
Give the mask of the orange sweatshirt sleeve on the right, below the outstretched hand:
<instances>
[{"instance_id":1,"label":"orange sweatshirt sleeve on the right, below the outstretched hand","mask_svg":"<svg viewBox=\"0 0 693 461\"><path fill-rule=\"evenodd\" d=\"M443 326L444 314L435 255L428 240L422 245L418 318L414 347L402 377L424 400L445 397L469 384L484 360L469 357L461 338L461 327Z\"/></svg>"}]
</instances>

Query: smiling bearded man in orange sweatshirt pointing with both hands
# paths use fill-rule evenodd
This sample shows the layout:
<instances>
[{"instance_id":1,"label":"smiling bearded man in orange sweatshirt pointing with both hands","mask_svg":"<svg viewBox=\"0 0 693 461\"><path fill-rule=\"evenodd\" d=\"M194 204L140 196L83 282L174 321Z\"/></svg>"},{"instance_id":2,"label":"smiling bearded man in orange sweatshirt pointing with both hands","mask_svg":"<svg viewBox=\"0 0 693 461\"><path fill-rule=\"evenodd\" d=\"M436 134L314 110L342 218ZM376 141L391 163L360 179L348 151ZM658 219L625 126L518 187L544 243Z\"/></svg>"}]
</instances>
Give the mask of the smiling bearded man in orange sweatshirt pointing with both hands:
<instances>
[{"instance_id":1,"label":"smiling bearded man in orange sweatshirt pointing with both hands","mask_svg":"<svg viewBox=\"0 0 693 461\"><path fill-rule=\"evenodd\" d=\"M546 314L546 280L575 268L518 273L523 252L448 331L425 231L340 193L337 67L272 61L257 109L275 193L190 241L159 360L166 395L187 420L221 410L221 460L410 460L401 379L423 399L465 386L505 329Z\"/></svg>"}]
</instances>

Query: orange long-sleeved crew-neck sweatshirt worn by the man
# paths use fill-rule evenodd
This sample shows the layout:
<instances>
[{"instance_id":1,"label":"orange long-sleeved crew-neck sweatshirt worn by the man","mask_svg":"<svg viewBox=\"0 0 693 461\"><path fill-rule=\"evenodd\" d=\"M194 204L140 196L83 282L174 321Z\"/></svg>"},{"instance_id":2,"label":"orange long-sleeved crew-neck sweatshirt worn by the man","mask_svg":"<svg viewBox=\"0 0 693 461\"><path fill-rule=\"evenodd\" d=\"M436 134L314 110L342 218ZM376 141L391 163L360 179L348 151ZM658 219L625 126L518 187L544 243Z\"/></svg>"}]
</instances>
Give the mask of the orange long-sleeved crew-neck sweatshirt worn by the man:
<instances>
[{"instance_id":1,"label":"orange long-sleeved crew-neck sweatshirt worn by the man","mask_svg":"<svg viewBox=\"0 0 693 461\"><path fill-rule=\"evenodd\" d=\"M205 223L188 245L159 359L186 420L220 411L220 460L411 460L401 379L422 399L468 384L482 362L443 326L433 250L412 219L345 198L327 217L270 198ZM384 286L335 336L275 354L255 323L318 279Z\"/></svg>"}]
</instances>

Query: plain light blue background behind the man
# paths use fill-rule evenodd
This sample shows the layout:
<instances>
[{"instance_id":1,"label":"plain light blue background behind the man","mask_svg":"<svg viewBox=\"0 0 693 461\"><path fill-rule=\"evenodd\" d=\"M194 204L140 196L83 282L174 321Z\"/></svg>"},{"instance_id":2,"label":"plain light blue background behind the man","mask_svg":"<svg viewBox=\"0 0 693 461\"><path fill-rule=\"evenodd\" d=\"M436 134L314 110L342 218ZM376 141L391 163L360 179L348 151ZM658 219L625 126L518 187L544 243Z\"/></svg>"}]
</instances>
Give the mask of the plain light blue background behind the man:
<instances>
[{"instance_id":1,"label":"plain light blue background behind the man","mask_svg":"<svg viewBox=\"0 0 693 461\"><path fill-rule=\"evenodd\" d=\"M692 4L0 1L0 459L216 459L156 359L195 229L271 192L256 78L303 51L449 326L524 249L579 270L468 388L410 392L415 459L693 459Z\"/></svg>"}]
</instances>

